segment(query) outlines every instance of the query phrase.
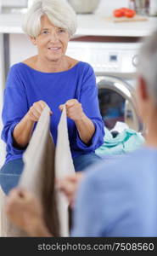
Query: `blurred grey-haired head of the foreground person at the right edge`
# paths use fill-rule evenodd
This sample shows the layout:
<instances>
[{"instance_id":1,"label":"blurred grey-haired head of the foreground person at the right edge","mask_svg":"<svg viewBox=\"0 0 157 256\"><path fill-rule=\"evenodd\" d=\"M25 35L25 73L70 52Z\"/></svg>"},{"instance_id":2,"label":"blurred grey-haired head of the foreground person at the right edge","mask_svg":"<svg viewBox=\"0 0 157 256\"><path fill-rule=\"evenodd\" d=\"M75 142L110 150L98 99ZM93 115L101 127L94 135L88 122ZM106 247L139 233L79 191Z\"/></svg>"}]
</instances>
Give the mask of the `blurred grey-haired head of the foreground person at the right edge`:
<instances>
[{"instance_id":1,"label":"blurred grey-haired head of the foreground person at the right edge","mask_svg":"<svg viewBox=\"0 0 157 256\"><path fill-rule=\"evenodd\" d=\"M149 95L157 105L157 31L143 42L138 58L137 73L146 81Z\"/></svg>"}]
</instances>

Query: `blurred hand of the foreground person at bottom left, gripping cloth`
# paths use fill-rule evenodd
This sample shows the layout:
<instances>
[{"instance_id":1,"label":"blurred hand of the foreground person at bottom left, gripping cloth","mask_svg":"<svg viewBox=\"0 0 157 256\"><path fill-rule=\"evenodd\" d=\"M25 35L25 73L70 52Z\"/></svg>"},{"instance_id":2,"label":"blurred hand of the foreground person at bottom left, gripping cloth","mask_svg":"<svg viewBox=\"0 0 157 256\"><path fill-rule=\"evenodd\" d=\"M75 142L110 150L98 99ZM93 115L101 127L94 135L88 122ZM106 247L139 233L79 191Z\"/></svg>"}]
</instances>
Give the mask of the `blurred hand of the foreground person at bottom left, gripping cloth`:
<instances>
[{"instance_id":1,"label":"blurred hand of the foreground person at bottom left, gripping cloth","mask_svg":"<svg viewBox=\"0 0 157 256\"><path fill-rule=\"evenodd\" d=\"M30 236L52 236L44 223L42 204L25 189L12 189L5 212L9 220Z\"/></svg>"}]
</instances>

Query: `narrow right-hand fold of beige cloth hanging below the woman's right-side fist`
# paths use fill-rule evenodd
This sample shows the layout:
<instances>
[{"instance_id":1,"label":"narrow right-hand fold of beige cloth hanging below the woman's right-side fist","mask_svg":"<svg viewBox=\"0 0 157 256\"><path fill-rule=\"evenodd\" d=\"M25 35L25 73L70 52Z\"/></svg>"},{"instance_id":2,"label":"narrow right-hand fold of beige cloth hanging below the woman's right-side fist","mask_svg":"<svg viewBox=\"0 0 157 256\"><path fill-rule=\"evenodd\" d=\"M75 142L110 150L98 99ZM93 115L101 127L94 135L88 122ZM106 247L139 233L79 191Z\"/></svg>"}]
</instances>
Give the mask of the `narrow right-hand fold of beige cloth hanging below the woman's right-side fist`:
<instances>
[{"instance_id":1,"label":"narrow right-hand fold of beige cloth hanging below the woman's right-side fist","mask_svg":"<svg viewBox=\"0 0 157 256\"><path fill-rule=\"evenodd\" d=\"M75 174L75 168L70 153L66 109L64 106L58 126L58 137L55 151L55 177L57 179L61 179L71 174ZM56 189L56 195L59 213L59 233L60 236L69 236L69 202L64 194L58 189Z\"/></svg>"}]
</instances>

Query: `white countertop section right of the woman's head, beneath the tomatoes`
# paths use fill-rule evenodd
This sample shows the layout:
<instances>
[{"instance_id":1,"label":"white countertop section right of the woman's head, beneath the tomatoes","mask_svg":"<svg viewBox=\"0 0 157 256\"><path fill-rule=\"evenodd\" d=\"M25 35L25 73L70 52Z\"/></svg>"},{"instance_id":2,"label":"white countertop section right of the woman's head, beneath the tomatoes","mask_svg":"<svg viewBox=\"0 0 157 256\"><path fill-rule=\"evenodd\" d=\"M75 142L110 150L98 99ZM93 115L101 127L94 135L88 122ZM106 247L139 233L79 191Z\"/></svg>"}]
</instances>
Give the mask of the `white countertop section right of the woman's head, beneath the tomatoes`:
<instances>
[{"instance_id":1,"label":"white countertop section right of the woman's head, beneath the tomatoes","mask_svg":"<svg viewBox=\"0 0 157 256\"><path fill-rule=\"evenodd\" d=\"M114 23L104 16L78 15L77 34L95 36L143 37L157 28L157 17L147 21Z\"/></svg>"}]
</instances>

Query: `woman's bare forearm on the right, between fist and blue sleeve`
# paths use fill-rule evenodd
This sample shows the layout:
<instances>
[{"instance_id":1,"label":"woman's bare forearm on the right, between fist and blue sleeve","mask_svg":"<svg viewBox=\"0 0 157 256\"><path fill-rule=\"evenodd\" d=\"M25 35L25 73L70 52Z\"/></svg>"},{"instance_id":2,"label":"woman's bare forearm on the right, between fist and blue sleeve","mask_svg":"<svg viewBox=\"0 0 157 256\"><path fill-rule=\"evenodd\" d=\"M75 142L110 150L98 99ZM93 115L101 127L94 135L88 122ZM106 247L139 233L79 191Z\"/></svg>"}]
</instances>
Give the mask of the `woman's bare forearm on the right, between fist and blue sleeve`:
<instances>
[{"instance_id":1,"label":"woman's bare forearm on the right, between fist and blue sleeve","mask_svg":"<svg viewBox=\"0 0 157 256\"><path fill-rule=\"evenodd\" d=\"M85 144L90 143L95 132L93 121L88 119L87 116L83 114L81 119L76 120L76 127L81 141Z\"/></svg>"}]
</instances>

